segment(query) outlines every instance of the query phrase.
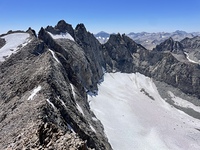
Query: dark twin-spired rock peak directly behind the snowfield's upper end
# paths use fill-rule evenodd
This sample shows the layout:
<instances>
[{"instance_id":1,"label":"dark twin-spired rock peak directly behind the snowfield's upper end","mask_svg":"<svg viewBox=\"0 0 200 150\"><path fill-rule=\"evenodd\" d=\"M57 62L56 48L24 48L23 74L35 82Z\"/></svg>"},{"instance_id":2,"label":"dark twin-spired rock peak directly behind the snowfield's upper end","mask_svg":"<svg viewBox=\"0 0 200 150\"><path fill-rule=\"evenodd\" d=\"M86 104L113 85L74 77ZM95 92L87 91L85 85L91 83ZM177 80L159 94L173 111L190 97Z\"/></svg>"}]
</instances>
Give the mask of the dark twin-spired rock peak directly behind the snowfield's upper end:
<instances>
[{"instance_id":1,"label":"dark twin-spired rock peak directly behind the snowfield's upper end","mask_svg":"<svg viewBox=\"0 0 200 150\"><path fill-rule=\"evenodd\" d=\"M107 71L133 72L133 53L146 50L135 43L126 35L111 35L107 43L103 45L103 55Z\"/></svg>"}]
</instances>

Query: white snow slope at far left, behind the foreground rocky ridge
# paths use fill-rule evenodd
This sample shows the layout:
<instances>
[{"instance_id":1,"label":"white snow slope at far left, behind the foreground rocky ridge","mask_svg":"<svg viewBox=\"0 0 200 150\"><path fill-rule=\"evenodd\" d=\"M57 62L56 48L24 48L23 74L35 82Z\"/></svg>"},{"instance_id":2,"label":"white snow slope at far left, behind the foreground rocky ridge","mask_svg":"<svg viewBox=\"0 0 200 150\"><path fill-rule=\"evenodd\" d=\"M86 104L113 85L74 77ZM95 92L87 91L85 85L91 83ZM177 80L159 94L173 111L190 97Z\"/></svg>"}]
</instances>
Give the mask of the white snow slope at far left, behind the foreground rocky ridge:
<instances>
[{"instance_id":1,"label":"white snow slope at far left, behind the foreground rocky ridge","mask_svg":"<svg viewBox=\"0 0 200 150\"><path fill-rule=\"evenodd\" d=\"M0 62L10 57L12 53L16 53L20 48L29 42L30 35L28 33L11 33L1 38L6 40L6 44L0 48Z\"/></svg>"}]
</instances>

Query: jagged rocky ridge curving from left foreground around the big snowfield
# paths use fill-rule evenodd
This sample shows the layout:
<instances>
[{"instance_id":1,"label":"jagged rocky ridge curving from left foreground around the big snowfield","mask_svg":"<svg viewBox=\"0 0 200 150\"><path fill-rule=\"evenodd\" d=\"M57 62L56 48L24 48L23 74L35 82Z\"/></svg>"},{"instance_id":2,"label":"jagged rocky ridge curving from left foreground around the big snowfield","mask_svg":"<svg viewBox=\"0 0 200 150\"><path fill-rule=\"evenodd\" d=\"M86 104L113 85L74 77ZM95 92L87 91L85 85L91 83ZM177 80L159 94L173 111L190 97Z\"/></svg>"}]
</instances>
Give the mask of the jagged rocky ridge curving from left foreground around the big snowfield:
<instances>
[{"instance_id":1,"label":"jagged rocky ridge curving from left foreground around the big snowfield","mask_svg":"<svg viewBox=\"0 0 200 150\"><path fill-rule=\"evenodd\" d=\"M38 36L31 28L1 35L0 149L111 150L88 101L104 73L139 72L199 106L199 52L195 38L170 38L152 51L124 34L100 44L84 24L73 29L64 20ZM199 119L198 112L183 111Z\"/></svg>"}]
</instances>

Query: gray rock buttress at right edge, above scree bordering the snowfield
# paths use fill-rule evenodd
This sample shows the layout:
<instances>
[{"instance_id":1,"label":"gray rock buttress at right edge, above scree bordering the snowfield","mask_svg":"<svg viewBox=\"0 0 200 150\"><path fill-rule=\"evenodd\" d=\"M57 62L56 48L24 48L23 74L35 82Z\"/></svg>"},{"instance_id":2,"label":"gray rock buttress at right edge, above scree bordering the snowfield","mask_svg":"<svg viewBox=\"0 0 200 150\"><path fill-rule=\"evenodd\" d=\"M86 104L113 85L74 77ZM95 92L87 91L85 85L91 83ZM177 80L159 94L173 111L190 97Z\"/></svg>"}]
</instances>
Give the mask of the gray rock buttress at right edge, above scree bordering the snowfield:
<instances>
[{"instance_id":1,"label":"gray rock buttress at right edge, above scree bordering the snowfield","mask_svg":"<svg viewBox=\"0 0 200 150\"><path fill-rule=\"evenodd\" d=\"M151 76L179 88L184 93L199 94L200 68L192 63L178 62L171 54L157 63L152 69Z\"/></svg>"}]
</instances>

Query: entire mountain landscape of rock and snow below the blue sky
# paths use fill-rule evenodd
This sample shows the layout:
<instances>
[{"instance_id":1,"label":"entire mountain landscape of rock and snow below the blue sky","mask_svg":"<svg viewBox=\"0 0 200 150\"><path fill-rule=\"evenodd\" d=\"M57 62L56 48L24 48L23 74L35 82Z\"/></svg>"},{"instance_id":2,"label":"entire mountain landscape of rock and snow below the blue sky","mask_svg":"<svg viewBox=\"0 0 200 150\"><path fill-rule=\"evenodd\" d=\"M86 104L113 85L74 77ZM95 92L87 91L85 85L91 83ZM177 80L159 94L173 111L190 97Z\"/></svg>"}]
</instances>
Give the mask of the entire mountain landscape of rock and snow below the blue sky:
<instances>
[{"instance_id":1,"label":"entire mountain landscape of rock and snow below the blue sky","mask_svg":"<svg viewBox=\"0 0 200 150\"><path fill-rule=\"evenodd\" d=\"M198 33L0 35L0 149L199 150Z\"/></svg>"}]
</instances>

